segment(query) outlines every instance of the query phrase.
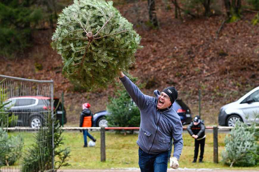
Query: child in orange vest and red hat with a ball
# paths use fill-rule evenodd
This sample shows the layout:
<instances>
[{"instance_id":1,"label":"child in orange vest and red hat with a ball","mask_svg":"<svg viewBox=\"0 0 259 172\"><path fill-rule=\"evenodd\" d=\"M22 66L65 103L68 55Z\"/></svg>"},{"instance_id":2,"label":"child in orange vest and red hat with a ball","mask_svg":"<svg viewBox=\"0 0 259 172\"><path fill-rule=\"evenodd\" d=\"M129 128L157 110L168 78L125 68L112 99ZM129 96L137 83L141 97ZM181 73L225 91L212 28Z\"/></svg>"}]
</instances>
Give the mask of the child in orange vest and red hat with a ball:
<instances>
[{"instance_id":1,"label":"child in orange vest and red hat with a ball","mask_svg":"<svg viewBox=\"0 0 259 172\"><path fill-rule=\"evenodd\" d=\"M79 127L92 127L93 125L93 114L91 112L90 103L84 103L82 104L82 113L80 114L80 123ZM82 130L80 130L82 132ZM88 133L88 130L83 130L83 136L84 136L84 146L87 147L87 136L91 138L94 142L96 142L96 139Z\"/></svg>"}]
</instances>

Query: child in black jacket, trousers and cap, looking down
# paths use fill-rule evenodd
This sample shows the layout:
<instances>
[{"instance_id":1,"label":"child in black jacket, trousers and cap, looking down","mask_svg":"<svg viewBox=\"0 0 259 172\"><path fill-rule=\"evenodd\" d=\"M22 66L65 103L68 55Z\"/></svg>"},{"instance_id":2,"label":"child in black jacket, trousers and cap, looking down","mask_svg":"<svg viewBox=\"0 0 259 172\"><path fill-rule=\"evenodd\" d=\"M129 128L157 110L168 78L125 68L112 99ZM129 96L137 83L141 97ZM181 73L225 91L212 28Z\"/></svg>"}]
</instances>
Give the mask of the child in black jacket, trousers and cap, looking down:
<instances>
[{"instance_id":1,"label":"child in black jacket, trousers and cap, looking down","mask_svg":"<svg viewBox=\"0 0 259 172\"><path fill-rule=\"evenodd\" d=\"M194 117L193 122L187 128L188 133L195 139L194 142L194 160L192 163L196 163L198 152L199 152L199 145L201 145L201 152L199 163L202 163L203 153L204 153L204 146L205 146L205 125L203 121L200 119L199 116Z\"/></svg>"}]
</instances>

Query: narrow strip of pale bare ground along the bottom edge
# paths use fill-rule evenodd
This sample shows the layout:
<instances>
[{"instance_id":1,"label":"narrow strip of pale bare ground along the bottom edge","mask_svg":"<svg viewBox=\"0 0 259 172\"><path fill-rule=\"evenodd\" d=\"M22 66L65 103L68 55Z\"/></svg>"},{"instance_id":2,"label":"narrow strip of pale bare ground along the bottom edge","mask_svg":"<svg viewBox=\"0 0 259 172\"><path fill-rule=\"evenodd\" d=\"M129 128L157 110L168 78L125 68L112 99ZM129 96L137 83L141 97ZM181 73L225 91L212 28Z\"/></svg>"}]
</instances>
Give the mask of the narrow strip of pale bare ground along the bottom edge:
<instances>
[{"instance_id":1,"label":"narrow strip of pale bare ground along the bottom edge","mask_svg":"<svg viewBox=\"0 0 259 172\"><path fill-rule=\"evenodd\" d=\"M182 172L247 172L248 170L218 170L209 168L179 168L177 170L167 169L167 171L182 171ZM258 172L259 170L249 170L249 172ZM58 172L140 172L138 168L124 168L124 169L103 169L103 170L59 170Z\"/></svg>"}]
</instances>

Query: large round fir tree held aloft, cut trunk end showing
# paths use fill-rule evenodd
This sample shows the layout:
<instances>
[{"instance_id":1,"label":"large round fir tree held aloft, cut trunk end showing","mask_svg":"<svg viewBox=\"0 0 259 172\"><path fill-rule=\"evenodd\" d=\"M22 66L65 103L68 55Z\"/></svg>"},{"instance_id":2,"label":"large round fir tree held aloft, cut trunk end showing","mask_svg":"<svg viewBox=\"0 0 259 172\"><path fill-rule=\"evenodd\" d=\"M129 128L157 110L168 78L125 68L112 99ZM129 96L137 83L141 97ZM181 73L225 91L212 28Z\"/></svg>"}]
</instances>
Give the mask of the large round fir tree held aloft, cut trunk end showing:
<instances>
[{"instance_id":1,"label":"large round fir tree held aloft, cut trunk end showing","mask_svg":"<svg viewBox=\"0 0 259 172\"><path fill-rule=\"evenodd\" d=\"M112 1L74 0L59 15L52 47L68 78L95 90L114 83L118 71L128 71L140 40Z\"/></svg>"}]
</instances>

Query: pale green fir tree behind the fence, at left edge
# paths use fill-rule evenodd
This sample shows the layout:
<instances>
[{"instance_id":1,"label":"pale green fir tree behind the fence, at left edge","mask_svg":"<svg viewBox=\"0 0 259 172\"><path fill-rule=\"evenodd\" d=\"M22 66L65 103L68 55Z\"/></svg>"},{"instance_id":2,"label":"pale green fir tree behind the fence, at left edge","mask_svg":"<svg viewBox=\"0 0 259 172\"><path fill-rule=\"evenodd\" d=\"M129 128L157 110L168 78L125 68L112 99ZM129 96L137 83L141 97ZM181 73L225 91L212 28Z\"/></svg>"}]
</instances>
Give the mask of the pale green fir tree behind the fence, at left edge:
<instances>
[{"instance_id":1,"label":"pale green fir tree behind the fence, at left edge","mask_svg":"<svg viewBox=\"0 0 259 172\"><path fill-rule=\"evenodd\" d=\"M7 132L0 128L0 143L4 149L0 152L0 165L13 165L22 155L23 138L19 135L8 137Z\"/></svg>"}]
</instances>

